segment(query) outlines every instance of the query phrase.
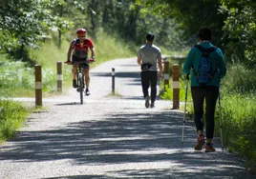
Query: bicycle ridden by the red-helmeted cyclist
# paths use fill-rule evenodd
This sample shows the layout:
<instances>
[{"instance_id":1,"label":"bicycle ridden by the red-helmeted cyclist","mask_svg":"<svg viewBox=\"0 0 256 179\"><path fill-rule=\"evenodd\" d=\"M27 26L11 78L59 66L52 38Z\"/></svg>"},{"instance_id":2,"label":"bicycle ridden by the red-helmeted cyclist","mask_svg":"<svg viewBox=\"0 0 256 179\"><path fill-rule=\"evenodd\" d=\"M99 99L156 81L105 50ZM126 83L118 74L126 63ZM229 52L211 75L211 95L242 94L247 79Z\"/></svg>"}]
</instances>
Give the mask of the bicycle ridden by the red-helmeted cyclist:
<instances>
[{"instance_id":1,"label":"bicycle ridden by the red-helmeted cyclist","mask_svg":"<svg viewBox=\"0 0 256 179\"><path fill-rule=\"evenodd\" d=\"M95 62L94 59L89 59L89 62ZM67 62L65 62L67 63ZM84 65L86 64L86 61L81 61L81 62L75 62L69 65L78 65L76 69L76 91L79 92L80 94L80 104L83 104L83 92L84 92Z\"/></svg>"}]
</instances>

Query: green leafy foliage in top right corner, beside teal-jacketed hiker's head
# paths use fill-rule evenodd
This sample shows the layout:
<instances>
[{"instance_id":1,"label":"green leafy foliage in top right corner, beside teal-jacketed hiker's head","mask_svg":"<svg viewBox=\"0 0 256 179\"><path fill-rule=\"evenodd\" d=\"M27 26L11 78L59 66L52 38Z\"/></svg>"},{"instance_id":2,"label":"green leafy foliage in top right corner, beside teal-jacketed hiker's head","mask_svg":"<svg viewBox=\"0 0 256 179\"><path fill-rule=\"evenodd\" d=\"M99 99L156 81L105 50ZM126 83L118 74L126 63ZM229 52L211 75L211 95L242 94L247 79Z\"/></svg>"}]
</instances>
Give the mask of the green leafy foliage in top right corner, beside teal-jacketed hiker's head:
<instances>
[{"instance_id":1,"label":"green leafy foliage in top right corner, beside teal-jacketed hiker's head","mask_svg":"<svg viewBox=\"0 0 256 179\"><path fill-rule=\"evenodd\" d=\"M256 67L256 3L252 0L222 0L225 51L233 62Z\"/></svg>"}]
</instances>

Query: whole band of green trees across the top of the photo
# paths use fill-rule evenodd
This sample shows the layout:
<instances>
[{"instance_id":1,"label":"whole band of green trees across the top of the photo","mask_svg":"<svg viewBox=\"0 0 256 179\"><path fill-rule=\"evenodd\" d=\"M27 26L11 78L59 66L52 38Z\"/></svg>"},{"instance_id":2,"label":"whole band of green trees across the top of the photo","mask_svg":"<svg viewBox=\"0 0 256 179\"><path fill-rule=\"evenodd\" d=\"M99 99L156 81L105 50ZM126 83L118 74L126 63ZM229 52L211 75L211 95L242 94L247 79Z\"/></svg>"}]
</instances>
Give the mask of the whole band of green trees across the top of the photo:
<instances>
[{"instance_id":1,"label":"whole band of green trees across the top of the photo","mask_svg":"<svg viewBox=\"0 0 256 179\"><path fill-rule=\"evenodd\" d=\"M24 58L24 51L59 33L83 27L96 38L105 30L135 43L148 31L156 43L182 50L197 43L201 26L232 62L255 67L255 1L252 0L0 0L0 52Z\"/></svg>"}]
</instances>

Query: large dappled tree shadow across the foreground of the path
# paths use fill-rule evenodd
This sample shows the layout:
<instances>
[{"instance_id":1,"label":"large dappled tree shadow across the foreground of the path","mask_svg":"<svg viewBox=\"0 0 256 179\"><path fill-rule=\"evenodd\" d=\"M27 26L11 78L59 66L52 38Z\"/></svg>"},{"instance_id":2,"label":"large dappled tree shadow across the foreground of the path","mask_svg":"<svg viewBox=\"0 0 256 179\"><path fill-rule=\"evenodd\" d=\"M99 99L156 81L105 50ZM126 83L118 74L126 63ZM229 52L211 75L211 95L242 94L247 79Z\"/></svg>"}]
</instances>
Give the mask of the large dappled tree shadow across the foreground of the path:
<instances>
[{"instance_id":1,"label":"large dappled tree shadow across the foreground of the path","mask_svg":"<svg viewBox=\"0 0 256 179\"><path fill-rule=\"evenodd\" d=\"M16 143L13 149L0 153L0 160L40 162L71 159L75 165L102 167L145 165L145 169L139 170L120 167L108 171L142 178L224 178L243 174L243 162L237 165L232 156L224 157L226 153L194 152L191 149L194 128L186 126L185 143L181 147L181 120L182 116L175 112L155 111L145 115L144 111L137 111L132 114L110 113L100 121L86 121L85 118L64 129L24 131L12 140ZM146 166L154 166L154 163L163 165L163 168L147 169ZM95 178L108 177L96 175Z\"/></svg>"}]
</instances>

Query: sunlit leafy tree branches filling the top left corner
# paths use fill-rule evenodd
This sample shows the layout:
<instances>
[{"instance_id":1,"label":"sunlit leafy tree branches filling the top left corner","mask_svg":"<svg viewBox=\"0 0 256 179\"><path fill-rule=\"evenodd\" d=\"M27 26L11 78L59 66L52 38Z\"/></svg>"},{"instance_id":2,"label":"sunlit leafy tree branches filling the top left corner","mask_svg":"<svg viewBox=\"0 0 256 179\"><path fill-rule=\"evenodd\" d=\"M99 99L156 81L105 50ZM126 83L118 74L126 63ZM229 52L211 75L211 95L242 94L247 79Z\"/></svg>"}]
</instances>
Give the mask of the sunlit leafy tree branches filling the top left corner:
<instances>
[{"instance_id":1,"label":"sunlit leafy tree branches filling the top left corner","mask_svg":"<svg viewBox=\"0 0 256 179\"><path fill-rule=\"evenodd\" d=\"M37 49L39 42L50 38L50 30L58 23L68 24L64 19L53 16L55 3L62 3L62 0L1 1L0 50L16 59L28 57L27 49Z\"/></svg>"}]
</instances>

